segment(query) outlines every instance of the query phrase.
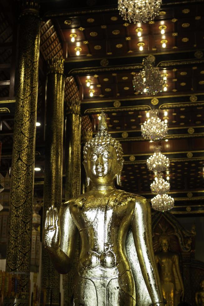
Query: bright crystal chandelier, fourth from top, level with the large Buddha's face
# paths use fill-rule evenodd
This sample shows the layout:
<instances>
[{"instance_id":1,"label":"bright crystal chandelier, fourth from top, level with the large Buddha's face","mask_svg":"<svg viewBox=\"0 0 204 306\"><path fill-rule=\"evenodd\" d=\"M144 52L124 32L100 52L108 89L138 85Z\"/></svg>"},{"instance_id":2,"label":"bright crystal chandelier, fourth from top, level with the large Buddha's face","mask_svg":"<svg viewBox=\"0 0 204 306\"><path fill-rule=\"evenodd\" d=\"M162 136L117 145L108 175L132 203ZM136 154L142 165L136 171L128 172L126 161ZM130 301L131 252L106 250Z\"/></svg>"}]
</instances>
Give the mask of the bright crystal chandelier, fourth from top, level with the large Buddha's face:
<instances>
[{"instance_id":1,"label":"bright crystal chandelier, fourth from top, level with the large Buddha's face","mask_svg":"<svg viewBox=\"0 0 204 306\"><path fill-rule=\"evenodd\" d=\"M150 171L162 172L169 167L169 159L161 153L161 146L154 147L154 154L147 160L147 166Z\"/></svg>"}]
</instances>

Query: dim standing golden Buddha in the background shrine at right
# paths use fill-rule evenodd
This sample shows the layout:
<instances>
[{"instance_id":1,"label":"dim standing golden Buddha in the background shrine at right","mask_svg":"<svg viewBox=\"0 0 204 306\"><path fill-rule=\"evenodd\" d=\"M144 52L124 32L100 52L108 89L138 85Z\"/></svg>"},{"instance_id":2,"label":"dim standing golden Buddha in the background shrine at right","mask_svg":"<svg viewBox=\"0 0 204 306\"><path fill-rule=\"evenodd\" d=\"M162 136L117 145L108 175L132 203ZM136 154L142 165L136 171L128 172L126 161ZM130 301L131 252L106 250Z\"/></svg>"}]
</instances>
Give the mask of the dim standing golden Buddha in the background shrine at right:
<instances>
[{"instance_id":1,"label":"dim standing golden Buddha in the background shrine at right","mask_svg":"<svg viewBox=\"0 0 204 306\"><path fill-rule=\"evenodd\" d=\"M167 301L166 306L177 306L184 296L178 254L169 251L169 239L165 234L160 237L160 245L161 252L155 254L155 259L159 266L163 297Z\"/></svg>"}]
</instances>

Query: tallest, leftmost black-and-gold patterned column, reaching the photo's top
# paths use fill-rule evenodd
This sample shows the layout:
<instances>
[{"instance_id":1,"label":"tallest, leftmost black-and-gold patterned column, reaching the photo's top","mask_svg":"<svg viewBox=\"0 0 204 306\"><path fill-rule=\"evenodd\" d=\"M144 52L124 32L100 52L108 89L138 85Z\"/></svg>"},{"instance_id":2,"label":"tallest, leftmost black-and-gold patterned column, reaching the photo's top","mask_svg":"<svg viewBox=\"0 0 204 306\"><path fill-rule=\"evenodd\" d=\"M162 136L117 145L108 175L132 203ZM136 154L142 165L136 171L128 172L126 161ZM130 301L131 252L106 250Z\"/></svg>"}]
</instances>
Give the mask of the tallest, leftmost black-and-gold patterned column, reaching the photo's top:
<instances>
[{"instance_id":1,"label":"tallest, leftmost black-and-gold patterned column, reaching the photo's top","mask_svg":"<svg viewBox=\"0 0 204 306\"><path fill-rule=\"evenodd\" d=\"M40 47L39 3L20 1L19 46L16 78L11 195L6 271L18 275L17 295L4 305L29 304L32 202L36 141L38 62Z\"/></svg>"}]
</instances>

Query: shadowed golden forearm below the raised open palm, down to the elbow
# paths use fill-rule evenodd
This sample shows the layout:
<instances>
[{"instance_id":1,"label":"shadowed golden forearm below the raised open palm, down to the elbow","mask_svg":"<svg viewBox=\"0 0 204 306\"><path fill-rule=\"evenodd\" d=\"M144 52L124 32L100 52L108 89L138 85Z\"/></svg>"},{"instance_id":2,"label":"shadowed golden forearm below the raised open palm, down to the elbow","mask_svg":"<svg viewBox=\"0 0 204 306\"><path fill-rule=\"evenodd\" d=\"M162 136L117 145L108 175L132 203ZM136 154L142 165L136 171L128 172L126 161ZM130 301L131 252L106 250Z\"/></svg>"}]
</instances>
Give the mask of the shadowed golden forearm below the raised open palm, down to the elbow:
<instances>
[{"instance_id":1,"label":"shadowed golden forearm below the raised open palm, down to the elbow","mask_svg":"<svg viewBox=\"0 0 204 306\"><path fill-rule=\"evenodd\" d=\"M57 249L47 249L47 251L55 269L60 274L66 274L70 271L71 259L61 250L60 247Z\"/></svg>"}]
</instances>

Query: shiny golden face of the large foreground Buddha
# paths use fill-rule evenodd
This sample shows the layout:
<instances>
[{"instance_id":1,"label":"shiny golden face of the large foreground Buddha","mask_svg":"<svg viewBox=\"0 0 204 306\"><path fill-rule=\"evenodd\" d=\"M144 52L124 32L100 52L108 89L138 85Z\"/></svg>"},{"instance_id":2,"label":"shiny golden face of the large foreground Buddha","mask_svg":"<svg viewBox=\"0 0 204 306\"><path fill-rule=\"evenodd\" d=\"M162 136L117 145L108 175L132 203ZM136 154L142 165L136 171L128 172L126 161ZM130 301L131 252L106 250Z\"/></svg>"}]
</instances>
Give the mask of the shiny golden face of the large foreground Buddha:
<instances>
[{"instance_id":1,"label":"shiny golden face of the large foreground Buddha","mask_svg":"<svg viewBox=\"0 0 204 306\"><path fill-rule=\"evenodd\" d=\"M116 150L112 146L90 146L87 160L84 163L86 175L94 185L109 184L119 173L120 164L117 161Z\"/></svg>"}]
</instances>

